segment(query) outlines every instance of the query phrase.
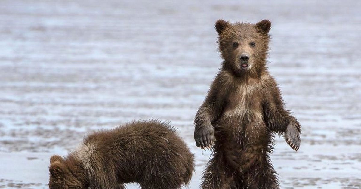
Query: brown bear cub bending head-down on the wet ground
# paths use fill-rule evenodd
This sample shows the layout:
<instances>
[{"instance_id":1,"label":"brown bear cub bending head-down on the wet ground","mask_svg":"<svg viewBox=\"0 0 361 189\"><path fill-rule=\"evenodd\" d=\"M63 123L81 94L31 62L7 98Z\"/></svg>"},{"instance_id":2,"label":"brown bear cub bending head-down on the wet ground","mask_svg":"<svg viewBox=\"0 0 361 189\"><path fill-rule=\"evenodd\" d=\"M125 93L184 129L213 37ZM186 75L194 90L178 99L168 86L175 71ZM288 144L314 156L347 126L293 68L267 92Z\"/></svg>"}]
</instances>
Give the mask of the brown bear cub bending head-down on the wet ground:
<instances>
[{"instance_id":1,"label":"brown bear cub bending head-down on the wet ground","mask_svg":"<svg viewBox=\"0 0 361 189\"><path fill-rule=\"evenodd\" d=\"M50 189L179 189L194 172L193 154L169 124L137 121L84 138L67 157L50 158Z\"/></svg>"}]
</instances>

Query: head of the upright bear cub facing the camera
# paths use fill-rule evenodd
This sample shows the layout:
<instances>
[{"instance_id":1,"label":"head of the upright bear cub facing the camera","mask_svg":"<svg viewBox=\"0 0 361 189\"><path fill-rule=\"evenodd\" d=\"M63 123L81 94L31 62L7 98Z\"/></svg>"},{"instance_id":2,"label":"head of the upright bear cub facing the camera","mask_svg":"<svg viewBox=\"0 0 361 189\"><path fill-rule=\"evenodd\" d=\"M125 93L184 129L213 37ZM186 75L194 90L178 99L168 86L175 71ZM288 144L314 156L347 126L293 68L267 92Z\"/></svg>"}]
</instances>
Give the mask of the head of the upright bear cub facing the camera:
<instances>
[{"instance_id":1,"label":"head of the upright bear cub facing the camera","mask_svg":"<svg viewBox=\"0 0 361 189\"><path fill-rule=\"evenodd\" d=\"M236 75L259 72L265 67L271 22L262 20L256 24L218 20L219 51L223 67Z\"/></svg>"}]
</instances>

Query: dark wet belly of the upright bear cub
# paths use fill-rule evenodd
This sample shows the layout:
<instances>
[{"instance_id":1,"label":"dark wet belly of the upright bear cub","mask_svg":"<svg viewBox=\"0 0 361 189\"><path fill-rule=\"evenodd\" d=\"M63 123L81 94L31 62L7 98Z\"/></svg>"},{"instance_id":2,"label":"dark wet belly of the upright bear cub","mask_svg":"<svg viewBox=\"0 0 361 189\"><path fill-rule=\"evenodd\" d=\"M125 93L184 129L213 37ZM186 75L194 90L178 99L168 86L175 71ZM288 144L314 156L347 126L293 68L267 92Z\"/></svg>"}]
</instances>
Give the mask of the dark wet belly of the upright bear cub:
<instances>
[{"instance_id":1,"label":"dark wet belly of the upright bear cub","mask_svg":"<svg viewBox=\"0 0 361 189\"><path fill-rule=\"evenodd\" d=\"M239 172L266 160L271 139L261 113L248 116L223 115L215 124L216 151Z\"/></svg>"}]
</instances>

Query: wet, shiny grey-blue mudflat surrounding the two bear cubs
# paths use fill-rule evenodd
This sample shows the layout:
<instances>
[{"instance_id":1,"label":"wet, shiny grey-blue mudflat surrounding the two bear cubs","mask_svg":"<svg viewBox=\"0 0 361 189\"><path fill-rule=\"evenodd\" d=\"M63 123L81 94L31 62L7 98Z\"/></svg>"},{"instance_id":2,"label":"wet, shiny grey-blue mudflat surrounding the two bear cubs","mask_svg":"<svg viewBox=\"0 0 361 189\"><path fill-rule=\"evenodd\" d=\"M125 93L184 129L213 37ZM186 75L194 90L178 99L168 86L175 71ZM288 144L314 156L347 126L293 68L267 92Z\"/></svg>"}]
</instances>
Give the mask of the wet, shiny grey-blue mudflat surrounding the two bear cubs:
<instances>
[{"instance_id":1,"label":"wet, shiny grey-blue mudflat surrounding the two bear cubs","mask_svg":"<svg viewBox=\"0 0 361 189\"><path fill-rule=\"evenodd\" d=\"M303 126L275 137L281 188L361 187L361 1L0 1L0 188L47 188L48 159L84 134L193 116L221 59L214 22L272 21L270 72ZM136 188L129 185L128 188Z\"/></svg>"}]
</instances>

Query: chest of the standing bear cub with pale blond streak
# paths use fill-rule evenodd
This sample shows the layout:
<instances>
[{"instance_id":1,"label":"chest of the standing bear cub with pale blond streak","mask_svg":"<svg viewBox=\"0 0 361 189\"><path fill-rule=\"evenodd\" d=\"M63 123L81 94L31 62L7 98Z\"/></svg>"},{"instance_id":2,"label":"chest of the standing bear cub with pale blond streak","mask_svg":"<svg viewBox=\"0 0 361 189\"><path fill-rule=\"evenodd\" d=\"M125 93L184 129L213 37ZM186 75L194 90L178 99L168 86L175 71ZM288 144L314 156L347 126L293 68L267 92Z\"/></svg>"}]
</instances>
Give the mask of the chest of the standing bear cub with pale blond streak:
<instances>
[{"instance_id":1,"label":"chest of the standing bear cub with pale blond streak","mask_svg":"<svg viewBox=\"0 0 361 189\"><path fill-rule=\"evenodd\" d=\"M240 85L230 91L226 106L219 119L221 133L227 133L229 139L256 142L264 138L267 129L264 123L264 92L258 83ZM258 143L258 142L256 142Z\"/></svg>"}]
</instances>

